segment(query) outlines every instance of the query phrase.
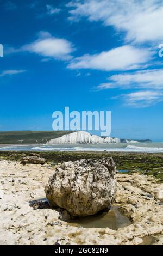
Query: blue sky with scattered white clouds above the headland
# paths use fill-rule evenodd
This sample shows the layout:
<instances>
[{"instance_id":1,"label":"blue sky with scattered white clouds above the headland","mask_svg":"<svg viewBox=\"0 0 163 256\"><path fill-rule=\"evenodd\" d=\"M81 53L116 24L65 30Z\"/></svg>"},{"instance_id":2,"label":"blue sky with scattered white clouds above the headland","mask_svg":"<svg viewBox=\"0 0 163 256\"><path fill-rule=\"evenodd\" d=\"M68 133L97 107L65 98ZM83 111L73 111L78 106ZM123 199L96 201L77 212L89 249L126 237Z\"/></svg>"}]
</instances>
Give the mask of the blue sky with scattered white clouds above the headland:
<instances>
[{"instance_id":1,"label":"blue sky with scattered white clouds above the headland","mask_svg":"<svg viewBox=\"0 0 163 256\"><path fill-rule=\"evenodd\" d=\"M111 111L111 136L163 141L160 0L0 3L0 130L52 130L52 113Z\"/></svg>"}]
</instances>

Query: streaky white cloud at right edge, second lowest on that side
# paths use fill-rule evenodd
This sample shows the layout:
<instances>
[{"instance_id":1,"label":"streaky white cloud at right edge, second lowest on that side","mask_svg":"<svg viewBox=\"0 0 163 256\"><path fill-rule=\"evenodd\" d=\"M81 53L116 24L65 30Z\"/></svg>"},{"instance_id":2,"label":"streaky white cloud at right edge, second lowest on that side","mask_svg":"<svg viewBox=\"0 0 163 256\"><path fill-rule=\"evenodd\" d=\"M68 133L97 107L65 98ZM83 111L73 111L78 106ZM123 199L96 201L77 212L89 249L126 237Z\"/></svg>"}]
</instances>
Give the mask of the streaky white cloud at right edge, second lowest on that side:
<instances>
[{"instance_id":1,"label":"streaky white cloud at right edge, second lowest on that side","mask_svg":"<svg viewBox=\"0 0 163 256\"><path fill-rule=\"evenodd\" d=\"M142 70L113 75L108 80L108 83L99 84L97 89L153 88L159 90L163 89L163 69Z\"/></svg>"}]
</instances>

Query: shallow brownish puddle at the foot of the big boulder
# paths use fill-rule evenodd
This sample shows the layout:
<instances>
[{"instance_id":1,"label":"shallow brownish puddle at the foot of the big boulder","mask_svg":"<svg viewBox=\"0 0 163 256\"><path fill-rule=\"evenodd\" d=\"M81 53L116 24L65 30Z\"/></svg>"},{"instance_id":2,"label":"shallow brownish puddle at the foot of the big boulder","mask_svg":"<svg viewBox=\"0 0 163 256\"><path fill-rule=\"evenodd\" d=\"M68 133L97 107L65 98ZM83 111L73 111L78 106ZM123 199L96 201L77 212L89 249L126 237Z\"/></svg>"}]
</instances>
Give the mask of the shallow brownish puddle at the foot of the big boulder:
<instances>
[{"instance_id":1,"label":"shallow brownish puddle at the foot of the big boulder","mask_svg":"<svg viewBox=\"0 0 163 256\"><path fill-rule=\"evenodd\" d=\"M131 224L129 219L118 210L118 206L112 206L108 212L105 211L92 216L76 218L67 222L84 228L110 228L113 230Z\"/></svg>"}]
</instances>

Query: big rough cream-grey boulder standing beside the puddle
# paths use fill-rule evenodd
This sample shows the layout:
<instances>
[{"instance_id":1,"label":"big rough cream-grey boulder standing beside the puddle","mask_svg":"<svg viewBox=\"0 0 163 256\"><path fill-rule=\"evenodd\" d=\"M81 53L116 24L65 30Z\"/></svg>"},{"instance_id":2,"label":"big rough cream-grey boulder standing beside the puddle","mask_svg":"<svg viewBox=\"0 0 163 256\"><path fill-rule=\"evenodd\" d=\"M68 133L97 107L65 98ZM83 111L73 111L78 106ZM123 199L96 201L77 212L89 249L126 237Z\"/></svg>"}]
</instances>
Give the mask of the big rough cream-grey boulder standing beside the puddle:
<instances>
[{"instance_id":1,"label":"big rough cream-grey boulder standing beside the puddle","mask_svg":"<svg viewBox=\"0 0 163 256\"><path fill-rule=\"evenodd\" d=\"M115 163L111 157L65 162L49 178L45 193L52 206L72 216L94 215L115 199Z\"/></svg>"}]
</instances>

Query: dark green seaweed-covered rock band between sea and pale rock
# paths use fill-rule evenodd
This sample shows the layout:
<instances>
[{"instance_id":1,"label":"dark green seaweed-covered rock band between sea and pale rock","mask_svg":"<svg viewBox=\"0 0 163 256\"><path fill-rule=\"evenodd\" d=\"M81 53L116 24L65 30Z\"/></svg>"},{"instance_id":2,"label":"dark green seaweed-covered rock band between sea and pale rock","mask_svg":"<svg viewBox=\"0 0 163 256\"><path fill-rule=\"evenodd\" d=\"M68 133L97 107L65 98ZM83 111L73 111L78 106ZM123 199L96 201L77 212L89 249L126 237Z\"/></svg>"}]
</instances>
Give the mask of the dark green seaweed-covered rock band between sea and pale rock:
<instances>
[{"instance_id":1,"label":"dark green seaweed-covered rock band between sea and pale rock","mask_svg":"<svg viewBox=\"0 0 163 256\"><path fill-rule=\"evenodd\" d=\"M0 151L0 160L21 161L23 156L39 154L49 164L84 159L113 157L117 170L154 175L163 182L163 153L104 152L104 151Z\"/></svg>"}]
</instances>

